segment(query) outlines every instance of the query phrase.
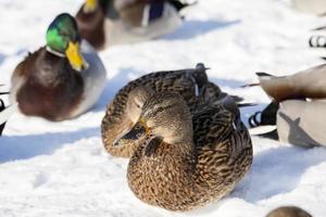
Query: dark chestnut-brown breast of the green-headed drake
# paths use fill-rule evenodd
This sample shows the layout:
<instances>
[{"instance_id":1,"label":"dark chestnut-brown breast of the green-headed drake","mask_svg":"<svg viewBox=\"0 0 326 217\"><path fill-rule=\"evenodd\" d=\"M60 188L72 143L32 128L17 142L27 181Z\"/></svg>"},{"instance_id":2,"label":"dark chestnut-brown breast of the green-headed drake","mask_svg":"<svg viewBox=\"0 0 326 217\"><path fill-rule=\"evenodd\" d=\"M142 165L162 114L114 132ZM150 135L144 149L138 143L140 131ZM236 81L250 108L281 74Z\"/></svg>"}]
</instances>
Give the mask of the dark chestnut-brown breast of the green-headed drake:
<instances>
[{"instance_id":1,"label":"dark chestnut-brown breast of the green-headed drake","mask_svg":"<svg viewBox=\"0 0 326 217\"><path fill-rule=\"evenodd\" d=\"M12 82L17 78L24 84L13 94L26 115L61 120L82 100L82 76L70 66L67 59L49 53L45 47L17 65Z\"/></svg>"}]
</instances>

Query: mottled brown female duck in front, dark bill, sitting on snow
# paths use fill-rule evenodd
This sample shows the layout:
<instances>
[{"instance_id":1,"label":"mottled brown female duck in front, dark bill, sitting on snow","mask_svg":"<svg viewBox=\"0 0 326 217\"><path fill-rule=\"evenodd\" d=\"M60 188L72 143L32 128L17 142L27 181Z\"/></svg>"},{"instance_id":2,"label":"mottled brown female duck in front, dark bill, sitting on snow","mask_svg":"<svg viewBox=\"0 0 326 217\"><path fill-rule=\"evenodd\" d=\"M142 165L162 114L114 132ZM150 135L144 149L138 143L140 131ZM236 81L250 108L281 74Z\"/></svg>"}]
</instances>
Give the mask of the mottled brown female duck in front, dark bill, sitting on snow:
<instances>
[{"instance_id":1,"label":"mottled brown female duck in front, dark bill, sitting on snow","mask_svg":"<svg viewBox=\"0 0 326 217\"><path fill-rule=\"evenodd\" d=\"M191 114L179 94L155 93L115 145L130 140L140 141L127 170L131 191L170 210L189 210L223 197L252 163L251 139L236 103L231 110L215 104Z\"/></svg>"}]
</instances>

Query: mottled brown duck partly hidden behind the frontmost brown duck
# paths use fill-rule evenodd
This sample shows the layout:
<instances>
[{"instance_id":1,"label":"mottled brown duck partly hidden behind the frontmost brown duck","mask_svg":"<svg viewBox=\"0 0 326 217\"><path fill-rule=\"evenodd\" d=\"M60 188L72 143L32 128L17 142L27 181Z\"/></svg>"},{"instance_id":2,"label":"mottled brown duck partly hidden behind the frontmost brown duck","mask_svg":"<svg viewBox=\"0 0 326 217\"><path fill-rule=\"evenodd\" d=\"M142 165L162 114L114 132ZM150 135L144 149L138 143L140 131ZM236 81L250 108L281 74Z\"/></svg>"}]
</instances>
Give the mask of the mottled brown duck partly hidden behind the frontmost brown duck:
<instances>
[{"instance_id":1,"label":"mottled brown duck partly hidden behind the frontmost brown duck","mask_svg":"<svg viewBox=\"0 0 326 217\"><path fill-rule=\"evenodd\" d=\"M114 140L138 120L141 106L151 92L166 90L178 92L190 110L195 110L199 101L208 102L221 93L217 86L209 82L203 64L198 64L193 69L151 73L130 81L109 104L102 120L103 144L110 154L131 156L135 145L114 146Z\"/></svg>"}]
</instances>

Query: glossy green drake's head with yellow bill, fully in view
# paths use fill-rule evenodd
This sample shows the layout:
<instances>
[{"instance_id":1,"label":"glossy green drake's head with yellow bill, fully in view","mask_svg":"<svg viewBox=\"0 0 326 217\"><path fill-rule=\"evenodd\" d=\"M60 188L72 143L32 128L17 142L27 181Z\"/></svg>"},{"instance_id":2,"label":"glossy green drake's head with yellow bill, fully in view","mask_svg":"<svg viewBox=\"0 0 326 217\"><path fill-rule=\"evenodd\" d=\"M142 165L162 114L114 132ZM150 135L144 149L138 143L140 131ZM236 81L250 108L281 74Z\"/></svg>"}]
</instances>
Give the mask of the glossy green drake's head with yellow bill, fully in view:
<instances>
[{"instance_id":1,"label":"glossy green drake's head with yellow bill, fully in view","mask_svg":"<svg viewBox=\"0 0 326 217\"><path fill-rule=\"evenodd\" d=\"M50 24L47 30L48 51L67 58L75 71L87 68L87 63L80 52L80 35L75 18L62 13Z\"/></svg>"}]
</instances>

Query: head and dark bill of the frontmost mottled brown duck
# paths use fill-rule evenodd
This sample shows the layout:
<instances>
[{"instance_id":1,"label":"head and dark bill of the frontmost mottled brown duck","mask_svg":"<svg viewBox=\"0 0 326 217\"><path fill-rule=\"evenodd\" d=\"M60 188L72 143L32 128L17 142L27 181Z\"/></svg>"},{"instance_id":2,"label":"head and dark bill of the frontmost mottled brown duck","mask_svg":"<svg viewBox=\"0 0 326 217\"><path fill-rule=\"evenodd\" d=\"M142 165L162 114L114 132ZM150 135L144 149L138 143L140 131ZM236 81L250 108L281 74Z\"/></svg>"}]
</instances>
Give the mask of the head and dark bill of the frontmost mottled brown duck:
<instances>
[{"instance_id":1,"label":"head and dark bill of the frontmost mottled brown duck","mask_svg":"<svg viewBox=\"0 0 326 217\"><path fill-rule=\"evenodd\" d=\"M114 145L146 137L160 138L170 144L192 142L192 120L184 99L177 93L155 93L146 101L135 126Z\"/></svg>"}]
</instances>

